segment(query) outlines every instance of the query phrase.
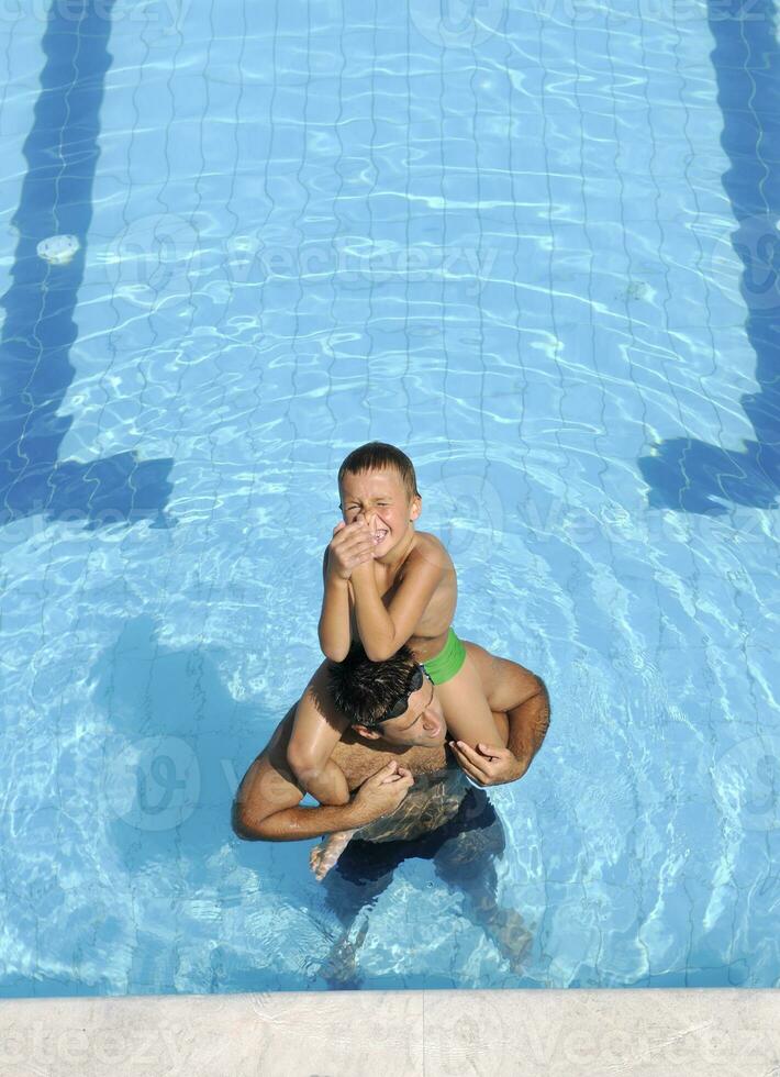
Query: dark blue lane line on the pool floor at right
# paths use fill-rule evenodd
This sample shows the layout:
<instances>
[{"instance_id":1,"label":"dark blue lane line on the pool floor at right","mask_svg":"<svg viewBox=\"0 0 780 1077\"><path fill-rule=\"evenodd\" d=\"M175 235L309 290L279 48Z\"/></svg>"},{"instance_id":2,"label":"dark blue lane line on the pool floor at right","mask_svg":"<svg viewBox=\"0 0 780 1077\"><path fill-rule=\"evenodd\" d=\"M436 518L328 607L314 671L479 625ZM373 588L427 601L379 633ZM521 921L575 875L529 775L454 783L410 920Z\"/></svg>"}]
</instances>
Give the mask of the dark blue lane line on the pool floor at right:
<instances>
[{"instance_id":1,"label":"dark blue lane line on the pool floor at right","mask_svg":"<svg viewBox=\"0 0 780 1077\"><path fill-rule=\"evenodd\" d=\"M711 53L731 160L723 188L743 263L745 323L758 392L740 398L756 434L743 452L672 437L638 460L651 508L723 515L734 506L777 508L780 492L780 45L773 0L709 0ZM765 158L762 151L768 148ZM723 355L720 362L728 363ZM714 500L717 499L717 500ZM726 502L725 504L723 502Z\"/></svg>"}]
</instances>

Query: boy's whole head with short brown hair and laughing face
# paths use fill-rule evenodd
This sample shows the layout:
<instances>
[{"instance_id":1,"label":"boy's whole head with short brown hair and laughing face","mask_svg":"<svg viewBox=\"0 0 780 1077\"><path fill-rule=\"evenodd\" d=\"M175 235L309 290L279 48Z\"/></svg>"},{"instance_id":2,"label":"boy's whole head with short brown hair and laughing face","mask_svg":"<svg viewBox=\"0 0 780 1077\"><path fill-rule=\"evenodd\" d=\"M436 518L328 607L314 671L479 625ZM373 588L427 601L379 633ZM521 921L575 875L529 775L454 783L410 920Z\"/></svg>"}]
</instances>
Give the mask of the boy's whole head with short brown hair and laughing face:
<instances>
[{"instance_id":1,"label":"boy's whole head with short brown hair and laughing face","mask_svg":"<svg viewBox=\"0 0 780 1077\"><path fill-rule=\"evenodd\" d=\"M369 442L349 453L338 468L338 496L345 523L360 514L369 521L378 560L414 530L422 511L412 462L385 442Z\"/></svg>"}]
</instances>

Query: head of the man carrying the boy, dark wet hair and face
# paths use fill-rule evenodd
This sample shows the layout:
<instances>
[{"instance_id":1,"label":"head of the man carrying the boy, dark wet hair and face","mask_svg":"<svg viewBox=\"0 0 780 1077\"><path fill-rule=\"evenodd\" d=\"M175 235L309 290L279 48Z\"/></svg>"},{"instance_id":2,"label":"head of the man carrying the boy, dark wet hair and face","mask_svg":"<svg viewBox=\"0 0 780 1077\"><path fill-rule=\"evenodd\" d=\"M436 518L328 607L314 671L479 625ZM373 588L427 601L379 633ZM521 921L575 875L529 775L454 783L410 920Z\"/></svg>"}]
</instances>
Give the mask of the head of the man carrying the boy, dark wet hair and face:
<instances>
[{"instance_id":1,"label":"head of the man carrying the boy, dark wet hair and face","mask_svg":"<svg viewBox=\"0 0 780 1077\"><path fill-rule=\"evenodd\" d=\"M355 645L330 667L335 704L366 740L441 747L447 733L433 681L405 645L385 662L370 662Z\"/></svg>"}]
</instances>

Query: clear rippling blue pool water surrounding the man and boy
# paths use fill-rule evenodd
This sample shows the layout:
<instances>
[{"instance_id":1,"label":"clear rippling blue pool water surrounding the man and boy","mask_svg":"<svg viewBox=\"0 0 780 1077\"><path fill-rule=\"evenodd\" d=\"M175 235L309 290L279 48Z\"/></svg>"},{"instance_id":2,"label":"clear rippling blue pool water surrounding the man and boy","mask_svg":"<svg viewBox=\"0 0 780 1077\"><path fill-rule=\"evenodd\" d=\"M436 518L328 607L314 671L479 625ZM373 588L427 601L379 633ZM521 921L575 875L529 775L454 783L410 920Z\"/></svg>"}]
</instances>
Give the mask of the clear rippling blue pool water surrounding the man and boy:
<instances>
[{"instance_id":1,"label":"clear rippling blue pool water surrounding the man and boy","mask_svg":"<svg viewBox=\"0 0 780 1077\"><path fill-rule=\"evenodd\" d=\"M524 967L411 859L360 986L780 984L772 4L0 20L0 993L327 987L313 843L230 803L369 438L553 724Z\"/></svg>"}]
</instances>

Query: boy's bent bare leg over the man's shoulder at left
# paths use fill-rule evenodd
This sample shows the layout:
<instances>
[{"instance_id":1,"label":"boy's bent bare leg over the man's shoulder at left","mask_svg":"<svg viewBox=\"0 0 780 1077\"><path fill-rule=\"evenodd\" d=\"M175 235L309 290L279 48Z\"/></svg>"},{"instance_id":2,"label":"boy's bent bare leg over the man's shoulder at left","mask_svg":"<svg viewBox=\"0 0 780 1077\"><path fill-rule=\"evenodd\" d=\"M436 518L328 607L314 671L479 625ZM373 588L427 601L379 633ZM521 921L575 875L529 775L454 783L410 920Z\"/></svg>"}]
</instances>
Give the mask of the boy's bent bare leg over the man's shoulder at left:
<instances>
[{"instance_id":1,"label":"boy's bent bare leg over the man's shoulder at left","mask_svg":"<svg viewBox=\"0 0 780 1077\"><path fill-rule=\"evenodd\" d=\"M301 789L322 804L345 804L349 800L344 771L331 759L348 724L331 701L327 663L323 662L298 703L287 750L288 763Z\"/></svg>"}]
</instances>

